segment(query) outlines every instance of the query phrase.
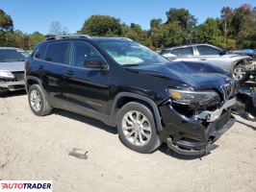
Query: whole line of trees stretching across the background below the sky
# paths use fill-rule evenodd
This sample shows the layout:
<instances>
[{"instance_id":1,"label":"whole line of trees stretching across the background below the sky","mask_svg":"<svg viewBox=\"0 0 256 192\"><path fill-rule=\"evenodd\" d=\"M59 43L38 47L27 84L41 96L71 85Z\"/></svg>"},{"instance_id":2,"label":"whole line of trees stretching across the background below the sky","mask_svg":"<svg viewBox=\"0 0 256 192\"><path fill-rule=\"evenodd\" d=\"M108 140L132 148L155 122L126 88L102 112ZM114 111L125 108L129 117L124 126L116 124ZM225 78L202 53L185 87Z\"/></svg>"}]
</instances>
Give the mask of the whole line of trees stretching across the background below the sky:
<instances>
[{"instance_id":1,"label":"whole line of trees stretching across the background below the sky","mask_svg":"<svg viewBox=\"0 0 256 192\"><path fill-rule=\"evenodd\" d=\"M256 49L256 8L243 4L240 8L224 7L218 18L207 18L197 25L197 19L188 10L169 9L166 19L153 18L150 29L139 24L121 23L110 15L91 15L78 34L90 36L126 36L152 48L210 43L224 49ZM49 34L68 35L68 30L58 21L52 22ZM45 37L39 32L23 34L13 28L13 19L0 10L0 46L33 49Z\"/></svg>"}]
</instances>

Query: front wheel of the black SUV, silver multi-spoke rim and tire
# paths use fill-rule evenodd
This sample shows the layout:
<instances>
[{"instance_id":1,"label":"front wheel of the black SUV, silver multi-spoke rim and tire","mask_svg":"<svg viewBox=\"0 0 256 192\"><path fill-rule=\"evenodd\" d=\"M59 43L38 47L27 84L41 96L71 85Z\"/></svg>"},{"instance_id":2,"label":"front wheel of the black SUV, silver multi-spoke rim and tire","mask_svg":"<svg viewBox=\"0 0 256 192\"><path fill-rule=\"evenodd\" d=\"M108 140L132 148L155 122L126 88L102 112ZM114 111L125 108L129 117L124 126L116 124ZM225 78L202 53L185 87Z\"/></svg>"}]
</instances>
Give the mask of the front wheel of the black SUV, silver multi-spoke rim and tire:
<instances>
[{"instance_id":1,"label":"front wheel of the black SUV, silver multi-spoke rim and tire","mask_svg":"<svg viewBox=\"0 0 256 192\"><path fill-rule=\"evenodd\" d=\"M119 110L117 131L126 147L141 154L150 154L161 145L152 111L138 102L130 102Z\"/></svg>"}]
</instances>

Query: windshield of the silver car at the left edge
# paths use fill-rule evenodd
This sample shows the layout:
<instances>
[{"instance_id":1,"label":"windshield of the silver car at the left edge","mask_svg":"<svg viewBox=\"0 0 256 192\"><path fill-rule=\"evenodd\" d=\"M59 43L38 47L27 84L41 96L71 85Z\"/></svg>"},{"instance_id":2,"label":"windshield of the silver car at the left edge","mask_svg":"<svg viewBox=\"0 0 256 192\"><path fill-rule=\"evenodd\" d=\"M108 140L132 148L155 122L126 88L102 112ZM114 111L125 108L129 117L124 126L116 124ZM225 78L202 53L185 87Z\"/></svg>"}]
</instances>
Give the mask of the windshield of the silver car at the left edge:
<instances>
[{"instance_id":1,"label":"windshield of the silver car at the left edge","mask_svg":"<svg viewBox=\"0 0 256 192\"><path fill-rule=\"evenodd\" d=\"M24 61L29 55L19 49L0 49L0 62Z\"/></svg>"}]
</instances>

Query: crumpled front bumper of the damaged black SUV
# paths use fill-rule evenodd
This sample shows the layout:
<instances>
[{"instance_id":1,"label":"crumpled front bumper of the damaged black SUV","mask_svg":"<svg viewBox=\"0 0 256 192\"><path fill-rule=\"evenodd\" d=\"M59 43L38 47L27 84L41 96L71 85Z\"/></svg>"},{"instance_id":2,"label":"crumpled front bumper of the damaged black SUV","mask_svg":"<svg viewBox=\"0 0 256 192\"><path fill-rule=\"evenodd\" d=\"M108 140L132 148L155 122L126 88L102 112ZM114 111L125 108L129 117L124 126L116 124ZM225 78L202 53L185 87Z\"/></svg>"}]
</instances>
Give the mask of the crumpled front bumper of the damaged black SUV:
<instances>
[{"instance_id":1,"label":"crumpled front bumper of the damaged black SUV","mask_svg":"<svg viewBox=\"0 0 256 192\"><path fill-rule=\"evenodd\" d=\"M201 156L214 147L214 142L236 122L231 114L236 99L228 100L215 111L203 111L196 117L187 117L171 105L160 108L165 129L160 132L167 146L180 155Z\"/></svg>"}]
</instances>

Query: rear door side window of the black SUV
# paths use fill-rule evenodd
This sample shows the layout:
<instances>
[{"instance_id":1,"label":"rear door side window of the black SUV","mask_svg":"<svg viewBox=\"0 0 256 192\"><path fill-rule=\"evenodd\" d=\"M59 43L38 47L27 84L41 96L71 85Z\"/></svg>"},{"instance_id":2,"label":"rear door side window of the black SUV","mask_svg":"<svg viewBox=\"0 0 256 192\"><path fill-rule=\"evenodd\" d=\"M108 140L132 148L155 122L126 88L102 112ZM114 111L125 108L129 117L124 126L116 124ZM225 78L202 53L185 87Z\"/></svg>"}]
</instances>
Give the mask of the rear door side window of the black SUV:
<instances>
[{"instance_id":1,"label":"rear door side window of the black SUV","mask_svg":"<svg viewBox=\"0 0 256 192\"><path fill-rule=\"evenodd\" d=\"M66 63L68 57L68 42L58 42L48 45L45 60Z\"/></svg>"}]
</instances>

